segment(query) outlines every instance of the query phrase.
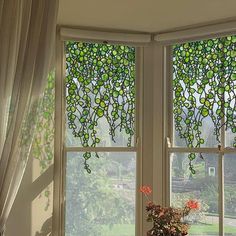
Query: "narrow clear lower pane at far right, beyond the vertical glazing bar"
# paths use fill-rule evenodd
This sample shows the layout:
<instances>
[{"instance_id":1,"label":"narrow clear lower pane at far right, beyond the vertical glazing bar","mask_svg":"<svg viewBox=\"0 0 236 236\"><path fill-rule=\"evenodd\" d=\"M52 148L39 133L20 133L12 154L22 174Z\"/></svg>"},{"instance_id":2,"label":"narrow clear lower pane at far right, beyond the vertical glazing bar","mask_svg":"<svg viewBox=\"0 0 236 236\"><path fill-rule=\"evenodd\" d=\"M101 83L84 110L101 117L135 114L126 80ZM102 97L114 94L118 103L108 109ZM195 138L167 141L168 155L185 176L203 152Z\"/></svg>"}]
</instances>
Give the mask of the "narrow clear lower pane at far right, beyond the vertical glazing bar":
<instances>
[{"instance_id":1,"label":"narrow clear lower pane at far right, beyond the vertical glazing bar","mask_svg":"<svg viewBox=\"0 0 236 236\"><path fill-rule=\"evenodd\" d=\"M225 172L225 235L236 235L236 154L224 157Z\"/></svg>"}]
</instances>

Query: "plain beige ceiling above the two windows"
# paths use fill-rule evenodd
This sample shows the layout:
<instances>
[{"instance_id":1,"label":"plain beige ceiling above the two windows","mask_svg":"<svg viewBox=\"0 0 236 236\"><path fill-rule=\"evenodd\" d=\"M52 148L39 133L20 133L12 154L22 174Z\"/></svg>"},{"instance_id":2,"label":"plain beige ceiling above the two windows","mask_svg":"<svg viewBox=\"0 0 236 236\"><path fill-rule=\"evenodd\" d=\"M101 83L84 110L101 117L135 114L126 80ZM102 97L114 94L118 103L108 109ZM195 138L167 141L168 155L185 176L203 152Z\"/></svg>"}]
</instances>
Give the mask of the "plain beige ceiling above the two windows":
<instances>
[{"instance_id":1,"label":"plain beige ceiling above the two windows","mask_svg":"<svg viewBox=\"0 0 236 236\"><path fill-rule=\"evenodd\" d=\"M236 0L59 0L58 24L139 32L236 18Z\"/></svg>"}]
</instances>

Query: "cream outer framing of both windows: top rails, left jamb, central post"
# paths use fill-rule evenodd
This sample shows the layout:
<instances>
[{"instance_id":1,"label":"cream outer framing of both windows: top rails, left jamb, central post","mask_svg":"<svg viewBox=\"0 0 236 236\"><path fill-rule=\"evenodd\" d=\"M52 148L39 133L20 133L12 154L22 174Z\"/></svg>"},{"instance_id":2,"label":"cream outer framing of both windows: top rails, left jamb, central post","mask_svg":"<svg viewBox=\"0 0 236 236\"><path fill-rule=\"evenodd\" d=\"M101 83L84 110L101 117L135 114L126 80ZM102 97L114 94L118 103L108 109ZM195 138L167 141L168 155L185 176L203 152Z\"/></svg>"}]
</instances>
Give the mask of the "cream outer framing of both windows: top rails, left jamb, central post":
<instances>
[{"instance_id":1,"label":"cream outer framing of both windows: top rails, left jamb, central post","mask_svg":"<svg viewBox=\"0 0 236 236\"><path fill-rule=\"evenodd\" d=\"M182 30L173 30L161 34L117 33L104 31L89 31L76 28L58 27L56 43L56 114L55 114L55 158L54 158L54 206L53 206L53 236L64 236L64 170L65 159L64 144L64 98L63 73L63 41L67 39L111 42L141 46L140 60L137 62L140 75L140 101L139 101L139 165L137 173L137 187L148 184L153 188L153 201L170 205L170 161L169 153L179 151L172 147L168 137L171 137L172 110L170 102L171 86L167 81L172 77L170 45L221 37L236 34L236 22L219 22L208 26L195 26ZM78 36L79 35L79 36ZM171 101L171 100L170 100ZM196 149L197 150L197 149ZM195 150L195 151L196 151ZM183 150L182 150L183 151ZM190 151L190 150L185 150ZM206 152L204 148L201 152ZM213 150L217 151L218 150ZM230 153L231 150L224 149ZM137 159L138 160L138 159ZM221 168L223 166L221 165ZM222 173L223 174L223 173ZM222 180L222 178L221 178ZM221 183L223 184L223 183ZM223 185L222 185L223 186ZM146 223L146 200L137 193L136 205L136 236L145 235L150 225ZM223 209L223 208L222 208ZM221 227L221 232L223 228ZM223 235L223 234L221 234Z\"/></svg>"}]
</instances>

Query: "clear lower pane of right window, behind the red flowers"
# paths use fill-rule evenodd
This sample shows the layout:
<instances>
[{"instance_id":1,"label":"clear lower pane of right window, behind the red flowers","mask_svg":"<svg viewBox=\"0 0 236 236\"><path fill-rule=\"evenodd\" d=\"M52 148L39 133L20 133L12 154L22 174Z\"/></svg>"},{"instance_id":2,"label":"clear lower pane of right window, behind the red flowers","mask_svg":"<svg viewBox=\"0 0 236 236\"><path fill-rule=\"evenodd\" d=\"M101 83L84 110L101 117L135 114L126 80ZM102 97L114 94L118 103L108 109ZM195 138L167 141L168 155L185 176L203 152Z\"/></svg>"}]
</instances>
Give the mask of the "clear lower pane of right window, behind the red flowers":
<instances>
[{"instance_id":1,"label":"clear lower pane of right window, behind the red flowers","mask_svg":"<svg viewBox=\"0 0 236 236\"><path fill-rule=\"evenodd\" d=\"M201 203L201 210L188 217L189 235L219 235L218 213L218 157L202 154L193 161L196 174L188 170L188 154L171 155L171 204L183 207L189 199Z\"/></svg>"}]
</instances>

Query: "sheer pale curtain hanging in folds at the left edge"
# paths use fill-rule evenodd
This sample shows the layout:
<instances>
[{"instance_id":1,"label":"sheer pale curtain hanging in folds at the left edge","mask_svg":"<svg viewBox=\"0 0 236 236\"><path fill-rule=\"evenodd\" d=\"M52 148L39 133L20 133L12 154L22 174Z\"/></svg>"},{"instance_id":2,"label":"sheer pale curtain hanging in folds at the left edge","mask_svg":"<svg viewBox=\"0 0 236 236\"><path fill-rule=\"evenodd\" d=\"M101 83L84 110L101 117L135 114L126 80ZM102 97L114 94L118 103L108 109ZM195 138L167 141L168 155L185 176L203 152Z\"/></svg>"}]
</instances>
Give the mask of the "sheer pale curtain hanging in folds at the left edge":
<instances>
[{"instance_id":1,"label":"sheer pale curtain hanging in folds at the left edge","mask_svg":"<svg viewBox=\"0 0 236 236\"><path fill-rule=\"evenodd\" d=\"M0 0L0 235L27 163L52 65L58 0Z\"/></svg>"}]
</instances>

